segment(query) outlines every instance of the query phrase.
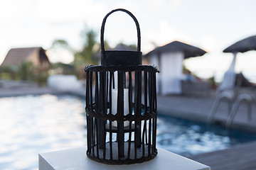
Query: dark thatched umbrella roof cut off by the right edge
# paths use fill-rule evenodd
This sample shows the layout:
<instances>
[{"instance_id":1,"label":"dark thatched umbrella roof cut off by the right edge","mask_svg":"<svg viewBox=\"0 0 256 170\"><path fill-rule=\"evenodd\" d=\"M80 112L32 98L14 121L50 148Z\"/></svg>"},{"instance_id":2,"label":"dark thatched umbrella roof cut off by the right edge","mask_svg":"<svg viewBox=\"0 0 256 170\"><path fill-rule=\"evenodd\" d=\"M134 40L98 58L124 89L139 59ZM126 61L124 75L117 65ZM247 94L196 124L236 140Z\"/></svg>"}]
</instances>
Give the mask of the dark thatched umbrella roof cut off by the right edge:
<instances>
[{"instance_id":1,"label":"dark thatched umbrella roof cut off by the right edge","mask_svg":"<svg viewBox=\"0 0 256 170\"><path fill-rule=\"evenodd\" d=\"M256 35L245 38L227 47L223 52L247 52L256 50Z\"/></svg>"}]
</instances>

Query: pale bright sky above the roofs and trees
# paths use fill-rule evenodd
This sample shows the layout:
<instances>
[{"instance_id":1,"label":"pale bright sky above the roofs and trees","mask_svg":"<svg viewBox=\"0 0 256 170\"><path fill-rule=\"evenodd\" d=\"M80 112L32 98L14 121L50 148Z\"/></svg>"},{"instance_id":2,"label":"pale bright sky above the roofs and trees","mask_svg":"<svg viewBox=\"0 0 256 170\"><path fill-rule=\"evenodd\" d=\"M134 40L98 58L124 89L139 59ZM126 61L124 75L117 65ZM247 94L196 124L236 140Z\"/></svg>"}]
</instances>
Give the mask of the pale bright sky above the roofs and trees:
<instances>
[{"instance_id":1,"label":"pale bright sky above the roofs and trees","mask_svg":"<svg viewBox=\"0 0 256 170\"><path fill-rule=\"evenodd\" d=\"M126 8L139 21L144 54L156 45L179 40L208 52L185 60L188 69L201 77L222 75L233 59L222 51L256 35L255 6L254 0L1 0L0 62L11 48L42 46L49 50L56 39L80 50L82 30L95 30L100 42L105 15L114 8ZM105 40L112 47L119 42L137 44L132 18L113 13L107 18ZM72 60L70 55L50 55L53 62ZM256 75L255 66L256 51L238 53L237 72Z\"/></svg>"}]
</instances>

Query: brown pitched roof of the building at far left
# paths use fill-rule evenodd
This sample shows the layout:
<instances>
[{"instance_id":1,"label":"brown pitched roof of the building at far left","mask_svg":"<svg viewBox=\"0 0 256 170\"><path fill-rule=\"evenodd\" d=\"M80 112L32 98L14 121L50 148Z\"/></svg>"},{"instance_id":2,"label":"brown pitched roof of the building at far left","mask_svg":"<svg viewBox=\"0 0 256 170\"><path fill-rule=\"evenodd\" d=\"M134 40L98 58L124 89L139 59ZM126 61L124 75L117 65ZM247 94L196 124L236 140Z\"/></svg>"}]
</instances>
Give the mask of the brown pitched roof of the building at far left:
<instances>
[{"instance_id":1,"label":"brown pitched roof of the building at far left","mask_svg":"<svg viewBox=\"0 0 256 170\"><path fill-rule=\"evenodd\" d=\"M23 47L23 48L12 48L7 53L4 65L21 65L22 62L32 62L33 64L42 64L43 62L49 62L46 55L46 50L42 47Z\"/></svg>"}]
</instances>

